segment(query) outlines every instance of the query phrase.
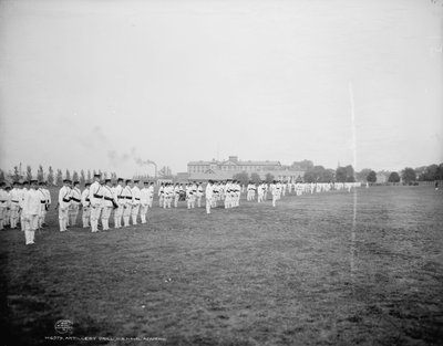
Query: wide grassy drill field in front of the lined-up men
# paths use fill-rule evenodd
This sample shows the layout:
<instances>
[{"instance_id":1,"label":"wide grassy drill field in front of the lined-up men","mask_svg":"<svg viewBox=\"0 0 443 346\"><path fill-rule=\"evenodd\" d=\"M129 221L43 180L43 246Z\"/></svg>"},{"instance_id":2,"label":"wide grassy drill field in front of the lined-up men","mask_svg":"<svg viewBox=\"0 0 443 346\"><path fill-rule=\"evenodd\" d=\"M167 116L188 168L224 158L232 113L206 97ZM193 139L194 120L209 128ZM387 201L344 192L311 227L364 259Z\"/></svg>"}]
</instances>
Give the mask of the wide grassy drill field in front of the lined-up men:
<instances>
[{"instance_id":1,"label":"wide grassy drill field in front of the lined-up men","mask_svg":"<svg viewBox=\"0 0 443 346\"><path fill-rule=\"evenodd\" d=\"M99 233L59 232L53 210L48 221L33 247L0 232L4 345L443 344L443 191L432 187L209 216L155 206L147 226ZM79 339L49 339L59 319Z\"/></svg>"}]
</instances>

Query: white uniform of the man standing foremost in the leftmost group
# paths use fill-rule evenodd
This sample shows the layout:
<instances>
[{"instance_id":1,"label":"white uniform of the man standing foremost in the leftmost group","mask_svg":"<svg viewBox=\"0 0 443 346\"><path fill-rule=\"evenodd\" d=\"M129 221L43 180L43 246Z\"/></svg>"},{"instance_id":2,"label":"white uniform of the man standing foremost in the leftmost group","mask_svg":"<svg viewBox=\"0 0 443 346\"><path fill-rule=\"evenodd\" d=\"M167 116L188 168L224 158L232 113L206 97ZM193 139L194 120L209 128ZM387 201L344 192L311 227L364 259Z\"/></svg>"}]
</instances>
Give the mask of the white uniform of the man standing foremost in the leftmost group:
<instances>
[{"instance_id":1,"label":"white uniform of the man standing foremost in the leftmost group","mask_svg":"<svg viewBox=\"0 0 443 346\"><path fill-rule=\"evenodd\" d=\"M25 191L22 208L25 244L33 244L35 230L39 228L41 193L35 189Z\"/></svg>"}]
</instances>

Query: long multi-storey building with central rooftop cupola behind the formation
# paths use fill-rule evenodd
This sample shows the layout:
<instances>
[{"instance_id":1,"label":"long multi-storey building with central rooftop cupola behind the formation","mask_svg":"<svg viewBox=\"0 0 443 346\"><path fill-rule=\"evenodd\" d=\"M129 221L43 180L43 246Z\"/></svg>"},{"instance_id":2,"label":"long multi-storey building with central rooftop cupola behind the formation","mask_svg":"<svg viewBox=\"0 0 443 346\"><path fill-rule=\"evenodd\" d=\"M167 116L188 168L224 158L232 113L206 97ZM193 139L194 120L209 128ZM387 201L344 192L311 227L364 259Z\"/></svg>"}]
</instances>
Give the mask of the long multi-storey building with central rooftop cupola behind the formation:
<instances>
[{"instance_id":1,"label":"long multi-storey building with central rooftop cupola behind the formation","mask_svg":"<svg viewBox=\"0 0 443 346\"><path fill-rule=\"evenodd\" d=\"M189 180L226 180L241 171L246 171L249 176L256 172L261 179L270 174L275 179L292 181L301 179L305 175L305 171L282 166L280 161L241 161L237 156L229 156L224 161L213 159L212 161L190 161L187 164Z\"/></svg>"}]
</instances>

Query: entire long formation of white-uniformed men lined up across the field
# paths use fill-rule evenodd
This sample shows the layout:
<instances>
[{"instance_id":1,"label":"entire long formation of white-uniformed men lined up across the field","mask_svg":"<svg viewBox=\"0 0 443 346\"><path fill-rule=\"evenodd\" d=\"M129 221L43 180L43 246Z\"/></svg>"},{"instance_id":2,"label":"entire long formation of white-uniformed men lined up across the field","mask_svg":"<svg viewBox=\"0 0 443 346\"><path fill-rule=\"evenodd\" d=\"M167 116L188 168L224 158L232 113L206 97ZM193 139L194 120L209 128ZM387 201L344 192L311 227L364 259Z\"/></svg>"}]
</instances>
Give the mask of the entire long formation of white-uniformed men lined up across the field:
<instances>
[{"instance_id":1,"label":"entire long formation of white-uniformed men lined up across the field","mask_svg":"<svg viewBox=\"0 0 443 346\"><path fill-rule=\"evenodd\" d=\"M119 178L116 184L111 179L101 180L100 175L94 175L93 182L86 182L83 191L79 181L63 180L59 190L58 212L60 231L65 232L69 227L75 227L80 211L82 212L83 228L91 228L99 232L110 230L110 219L113 213L114 228L147 222L148 210L153 207L154 182ZM270 184L249 181L246 186L240 181L227 179L213 181L203 186L202 182L188 184L161 184L158 188L158 205L164 209L178 208L178 201L185 200L187 209L202 207L202 199L206 199L206 212L213 208L236 208L240 205L240 195L246 190L248 201L257 200L261 203L271 195L272 207L286 193L301 196L303 193L327 192L333 190L348 190L361 186L360 182L329 182L302 184L284 182L274 180ZM45 226L45 214L51 206L51 195L45 182L37 180L19 182L12 188L4 182L0 184L0 230L4 227L20 228L25 231L25 243L34 243L34 231Z\"/></svg>"}]
</instances>

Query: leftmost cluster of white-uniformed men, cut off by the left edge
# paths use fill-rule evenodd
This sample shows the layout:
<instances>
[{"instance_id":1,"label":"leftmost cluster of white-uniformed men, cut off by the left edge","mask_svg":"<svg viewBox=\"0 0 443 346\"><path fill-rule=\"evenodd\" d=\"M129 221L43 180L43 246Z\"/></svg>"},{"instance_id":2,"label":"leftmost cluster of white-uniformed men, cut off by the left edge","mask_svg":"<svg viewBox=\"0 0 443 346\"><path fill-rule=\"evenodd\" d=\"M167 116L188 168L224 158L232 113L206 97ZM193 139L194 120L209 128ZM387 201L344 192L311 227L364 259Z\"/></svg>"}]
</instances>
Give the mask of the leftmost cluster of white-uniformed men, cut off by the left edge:
<instances>
[{"instance_id":1,"label":"leftmost cluster of white-uniformed men, cut off by the left edge","mask_svg":"<svg viewBox=\"0 0 443 346\"><path fill-rule=\"evenodd\" d=\"M4 227L24 231L25 244L33 244L35 231L45 226L51 193L45 182L0 182L0 230Z\"/></svg>"}]
</instances>

